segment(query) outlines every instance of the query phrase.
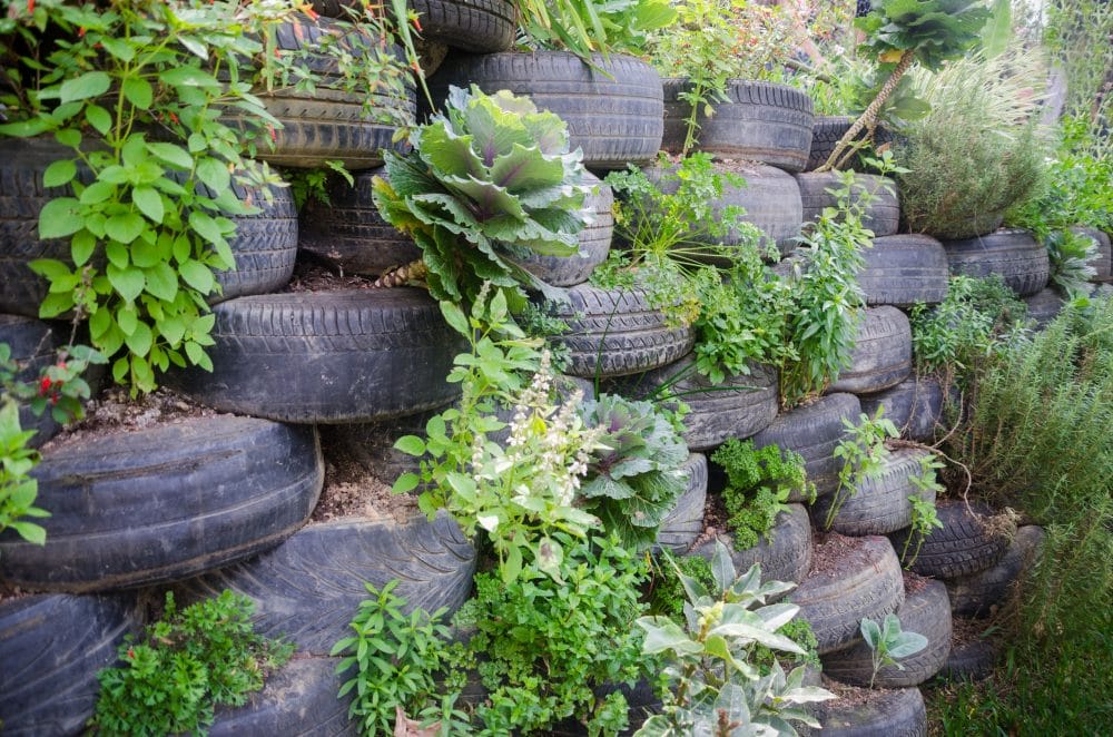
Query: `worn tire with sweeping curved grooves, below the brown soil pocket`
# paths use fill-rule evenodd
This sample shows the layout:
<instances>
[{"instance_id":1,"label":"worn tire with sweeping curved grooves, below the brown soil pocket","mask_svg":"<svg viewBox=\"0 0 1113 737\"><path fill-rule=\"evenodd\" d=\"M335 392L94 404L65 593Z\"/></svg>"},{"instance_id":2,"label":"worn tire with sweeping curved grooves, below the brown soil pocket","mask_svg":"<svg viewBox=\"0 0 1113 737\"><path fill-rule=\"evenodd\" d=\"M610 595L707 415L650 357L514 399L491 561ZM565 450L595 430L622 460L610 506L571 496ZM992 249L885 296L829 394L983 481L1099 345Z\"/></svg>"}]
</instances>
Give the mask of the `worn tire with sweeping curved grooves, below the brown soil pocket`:
<instances>
[{"instance_id":1,"label":"worn tire with sweeping curved grooves, below the brown soil pocket","mask_svg":"<svg viewBox=\"0 0 1113 737\"><path fill-rule=\"evenodd\" d=\"M367 598L364 581L382 588L401 579L395 596L406 611L421 607L450 613L467 599L475 548L445 512L432 522L404 523L346 518L309 524L270 552L180 582L180 600L197 601L224 589L255 601L255 628L285 635L298 652L327 656L346 637L348 622Z\"/></svg>"}]
</instances>

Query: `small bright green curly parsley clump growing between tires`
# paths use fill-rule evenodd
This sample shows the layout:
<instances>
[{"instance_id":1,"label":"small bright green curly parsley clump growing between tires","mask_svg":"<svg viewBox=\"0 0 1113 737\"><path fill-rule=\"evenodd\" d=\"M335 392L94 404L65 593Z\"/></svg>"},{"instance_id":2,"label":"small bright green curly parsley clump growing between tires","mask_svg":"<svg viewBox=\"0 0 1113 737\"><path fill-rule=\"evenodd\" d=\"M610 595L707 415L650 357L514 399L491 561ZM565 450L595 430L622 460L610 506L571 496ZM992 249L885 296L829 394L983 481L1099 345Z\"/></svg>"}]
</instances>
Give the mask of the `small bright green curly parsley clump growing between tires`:
<instances>
[{"instance_id":1,"label":"small bright green curly parsley clump growing between tires","mask_svg":"<svg viewBox=\"0 0 1113 737\"><path fill-rule=\"evenodd\" d=\"M711 460L727 473L722 490L727 505L727 527L735 535L735 548L746 550L769 534L777 515L787 511L785 502L792 491L815 499L815 487L808 483L804 459L776 445L754 448L754 441L731 438Z\"/></svg>"}]
</instances>

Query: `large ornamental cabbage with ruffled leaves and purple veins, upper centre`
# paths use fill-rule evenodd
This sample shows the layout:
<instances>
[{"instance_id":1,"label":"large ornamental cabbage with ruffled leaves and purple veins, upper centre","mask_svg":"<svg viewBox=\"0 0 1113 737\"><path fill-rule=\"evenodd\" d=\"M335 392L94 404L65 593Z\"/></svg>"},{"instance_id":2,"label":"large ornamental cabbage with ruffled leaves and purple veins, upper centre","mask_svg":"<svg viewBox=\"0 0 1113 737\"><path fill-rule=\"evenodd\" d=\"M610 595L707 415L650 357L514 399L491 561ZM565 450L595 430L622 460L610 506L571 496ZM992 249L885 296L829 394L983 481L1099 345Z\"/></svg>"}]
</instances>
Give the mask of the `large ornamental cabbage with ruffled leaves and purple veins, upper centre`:
<instances>
[{"instance_id":1,"label":"large ornamental cabbage with ruffled leaves and purple veins, upper centre","mask_svg":"<svg viewBox=\"0 0 1113 737\"><path fill-rule=\"evenodd\" d=\"M378 286L424 283L437 299L471 302L484 282L521 303L523 286L549 287L519 265L531 254L571 256L588 218L585 170L564 121L505 90L450 88L445 111L387 153L375 205L410 234L422 258Z\"/></svg>"}]
</instances>

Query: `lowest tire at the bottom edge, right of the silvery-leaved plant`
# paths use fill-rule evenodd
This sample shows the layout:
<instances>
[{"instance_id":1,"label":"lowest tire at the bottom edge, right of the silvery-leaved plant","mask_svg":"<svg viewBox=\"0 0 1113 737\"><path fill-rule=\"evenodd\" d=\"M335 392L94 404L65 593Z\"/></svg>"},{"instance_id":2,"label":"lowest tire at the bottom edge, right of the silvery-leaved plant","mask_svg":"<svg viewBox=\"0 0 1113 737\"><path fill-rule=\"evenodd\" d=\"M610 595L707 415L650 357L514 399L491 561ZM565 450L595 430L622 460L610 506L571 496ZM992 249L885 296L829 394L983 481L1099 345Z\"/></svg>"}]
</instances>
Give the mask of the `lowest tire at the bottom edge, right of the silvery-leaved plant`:
<instances>
[{"instance_id":1,"label":"lowest tire at the bottom edge, right of the silvery-leaved plant","mask_svg":"<svg viewBox=\"0 0 1113 737\"><path fill-rule=\"evenodd\" d=\"M824 737L926 737L927 707L918 688L886 689L853 707L819 704Z\"/></svg>"}]
</instances>

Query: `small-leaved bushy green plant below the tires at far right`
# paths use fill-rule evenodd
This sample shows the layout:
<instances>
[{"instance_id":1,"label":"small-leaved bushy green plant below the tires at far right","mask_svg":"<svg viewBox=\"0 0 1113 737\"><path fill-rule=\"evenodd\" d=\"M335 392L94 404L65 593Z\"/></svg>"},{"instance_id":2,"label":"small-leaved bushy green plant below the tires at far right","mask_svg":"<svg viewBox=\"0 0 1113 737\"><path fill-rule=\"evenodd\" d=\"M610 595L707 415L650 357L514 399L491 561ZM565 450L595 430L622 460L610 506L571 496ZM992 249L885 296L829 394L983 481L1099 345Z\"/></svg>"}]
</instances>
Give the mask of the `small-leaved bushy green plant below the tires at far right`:
<instances>
[{"instance_id":1,"label":"small-leaved bushy green plant below the tires at far right","mask_svg":"<svg viewBox=\"0 0 1113 737\"><path fill-rule=\"evenodd\" d=\"M920 372L963 374L1009 343L1027 318L1027 305L999 275L951 277L936 307L910 313L913 357Z\"/></svg>"}]
</instances>

